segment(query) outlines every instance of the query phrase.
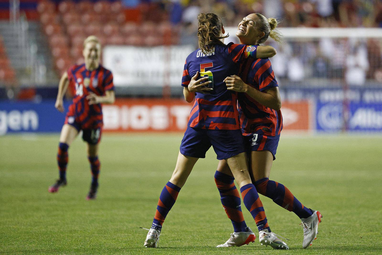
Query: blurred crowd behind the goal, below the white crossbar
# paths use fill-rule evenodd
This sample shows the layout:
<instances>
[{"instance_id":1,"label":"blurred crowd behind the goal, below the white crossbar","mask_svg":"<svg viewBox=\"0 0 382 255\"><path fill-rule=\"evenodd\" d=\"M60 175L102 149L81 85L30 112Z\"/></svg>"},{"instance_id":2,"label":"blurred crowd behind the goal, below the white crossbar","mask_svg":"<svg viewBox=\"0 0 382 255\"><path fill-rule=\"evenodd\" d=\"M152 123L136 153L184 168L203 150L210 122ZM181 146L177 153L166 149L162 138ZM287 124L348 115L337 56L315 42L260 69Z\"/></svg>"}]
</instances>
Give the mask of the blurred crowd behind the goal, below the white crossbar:
<instances>
[{"instance_id":1,"label":"blurred crowd behind the goal, below the white crossbar","mask_svg":"<svg viewBox=\"0 0 382 255\"><path fill-rule=\"evenodd\" d=\"M366 80L382 82L381 40L288 40L275 47L277 55L271 62L280 80L320 86L326 79L337 81L340 86L343 81L350 86L363 85Z\"/></svg>"}]
</instances>

